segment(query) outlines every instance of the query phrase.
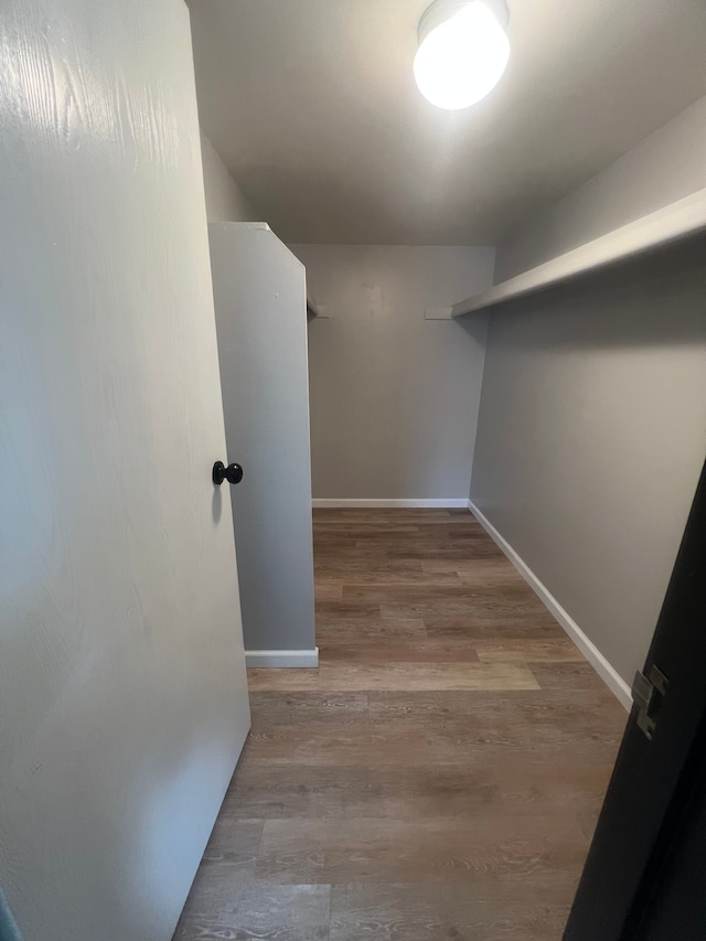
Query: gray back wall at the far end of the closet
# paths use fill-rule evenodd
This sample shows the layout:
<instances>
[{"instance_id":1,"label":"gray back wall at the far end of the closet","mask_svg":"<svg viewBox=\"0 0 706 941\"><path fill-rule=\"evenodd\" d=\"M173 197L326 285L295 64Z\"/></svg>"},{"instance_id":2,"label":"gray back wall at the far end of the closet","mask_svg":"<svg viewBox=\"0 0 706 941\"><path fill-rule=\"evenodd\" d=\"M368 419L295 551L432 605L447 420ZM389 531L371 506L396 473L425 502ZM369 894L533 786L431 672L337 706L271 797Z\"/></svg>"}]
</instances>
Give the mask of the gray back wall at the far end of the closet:
<instances>
[{"instance_id":1,"label":"gray back wall at the far end of the closet","mask_svg":"<svg viewBox=\"0 0 706 941\"><path fill-rule=\"evenodd\" d=\"M314 498L464 498L485 323L426 321L492 284L494 250L296 245L309 295Z\"/></svg>"}]
</instances>

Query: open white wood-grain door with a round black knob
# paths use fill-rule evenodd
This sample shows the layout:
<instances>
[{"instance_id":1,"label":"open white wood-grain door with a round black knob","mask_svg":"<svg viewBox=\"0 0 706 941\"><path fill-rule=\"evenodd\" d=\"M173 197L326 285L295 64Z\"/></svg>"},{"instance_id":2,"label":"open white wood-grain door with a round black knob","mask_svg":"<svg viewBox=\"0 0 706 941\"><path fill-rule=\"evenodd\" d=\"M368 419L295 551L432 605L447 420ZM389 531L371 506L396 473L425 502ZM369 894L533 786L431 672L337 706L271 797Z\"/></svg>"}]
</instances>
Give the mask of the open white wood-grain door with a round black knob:
<instances>
[{"instance_id":1,"label":"open white wood-grain door with a round black knob","mask_svg":"<svg viewBox=\"0 0 706 941\"><path fill-rule=\"evenodd\" d=\"M181 0L0 7L0 884L165 941L249 725Z\"/></svg>"}]
</instances>

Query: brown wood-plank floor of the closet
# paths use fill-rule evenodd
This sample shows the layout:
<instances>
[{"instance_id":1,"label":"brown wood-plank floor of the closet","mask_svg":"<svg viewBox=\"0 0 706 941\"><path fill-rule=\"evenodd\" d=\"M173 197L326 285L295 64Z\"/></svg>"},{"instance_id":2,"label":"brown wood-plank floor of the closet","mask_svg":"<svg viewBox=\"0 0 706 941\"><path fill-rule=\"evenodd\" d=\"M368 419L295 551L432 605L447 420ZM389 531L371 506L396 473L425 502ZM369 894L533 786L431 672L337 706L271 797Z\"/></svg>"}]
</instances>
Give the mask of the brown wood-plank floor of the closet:
<instances>
[{"instance_id":1,"label":"brown wood-plank floor of the closet","mask_svg":"<svg viewBox=\"0 0 706 941\"><path fill-rule=\"evenodd\" d=\"M467 511L314 554L320 669L250 671L175 938L558 941L625 712Z\"/></svg>"}]
</instances>

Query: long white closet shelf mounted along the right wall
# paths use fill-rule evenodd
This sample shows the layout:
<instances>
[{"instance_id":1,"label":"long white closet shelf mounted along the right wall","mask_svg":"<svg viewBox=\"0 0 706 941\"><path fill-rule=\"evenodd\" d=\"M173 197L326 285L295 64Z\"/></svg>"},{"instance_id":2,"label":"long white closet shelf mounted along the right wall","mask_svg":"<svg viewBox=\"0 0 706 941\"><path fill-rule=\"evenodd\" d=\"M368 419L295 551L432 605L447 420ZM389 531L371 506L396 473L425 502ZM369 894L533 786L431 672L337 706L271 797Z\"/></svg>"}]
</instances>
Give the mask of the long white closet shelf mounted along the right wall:
<instances>
[{"instance_id":1,"label":"long white closet shelf mounted along the right wall","mask_svg":"<svg viewBox=\"0 0 706 941\"><path fill-rule=\"evenodd\" d=\"M706 229L706 190L642 216L578 248L459 301L451 317L467 317L515 298L537 293L579 275L606 268Z\"/></svg>"}]
</instances>

